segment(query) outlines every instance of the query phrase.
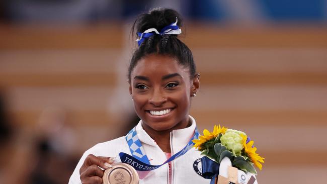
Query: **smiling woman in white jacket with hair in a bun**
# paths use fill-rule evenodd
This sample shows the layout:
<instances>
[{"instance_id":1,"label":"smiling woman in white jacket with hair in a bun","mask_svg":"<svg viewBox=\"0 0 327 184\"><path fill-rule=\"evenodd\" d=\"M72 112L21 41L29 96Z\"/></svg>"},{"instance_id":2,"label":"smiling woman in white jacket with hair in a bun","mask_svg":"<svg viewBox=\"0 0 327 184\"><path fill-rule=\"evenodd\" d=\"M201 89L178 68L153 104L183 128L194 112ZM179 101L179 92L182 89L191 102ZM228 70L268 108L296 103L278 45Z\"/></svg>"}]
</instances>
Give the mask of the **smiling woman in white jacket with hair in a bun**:
<instances>
[{"instance_id":1,"label":"smiling woman in white jacket with hair in a bun","mask_svg":"<svg viewBox=\"0 0 327 184\"><path fill-rule=\"evenodd\" d=\"M143 147L139 153L145 152L151 165L162 164L176 153L180 156L149 172L139 172L140 183L210 182L201 176L196 164L202 157L200 152L186 146L197 133L196 122L189 112L200 87L200 75L196 73L191 50L178 39L181 25L181 16L170 9L141 14L133 25L139 47L130 62L128 81L141 121L131 134L134 131L137 135ZM86 151L69 183L102 183L101 168L112 167L113 157L120 152L137 157L137 150L134 152L136 148L129 141L132 140L127 135Z\"/></svg>"}]
</instances>

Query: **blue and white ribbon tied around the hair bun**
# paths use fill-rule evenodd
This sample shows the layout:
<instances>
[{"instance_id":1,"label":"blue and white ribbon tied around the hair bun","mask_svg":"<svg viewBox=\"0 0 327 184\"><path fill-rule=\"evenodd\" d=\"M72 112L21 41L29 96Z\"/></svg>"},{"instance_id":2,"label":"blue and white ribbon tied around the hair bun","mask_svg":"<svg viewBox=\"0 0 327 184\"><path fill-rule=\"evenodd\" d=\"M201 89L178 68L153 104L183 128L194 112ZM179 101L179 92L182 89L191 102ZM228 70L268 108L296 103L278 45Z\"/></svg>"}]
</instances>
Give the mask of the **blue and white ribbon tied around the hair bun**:
<instances>
[{"instance_id":1,"label":"blue and white ribbon tied around the hair bun","mask_svg":"<svg viewBox=\"0 0 327 184\"><path fill-rule=\"evenodd\" d=\"M172 23L164 28L162 28L162 30L160 32L158 32L158 30L156 30L155 28L150 28L145 30L143 33L137 33L137 35L139 36L138 39L136 39L138 46L141 45L141 43L149 38L150 36L154 35L154 34L158 34L158 35L178 35L182 33L182 30L177 26L177 17L176 17L176 22ZM154 32L154 33L153 33Z\"/></svg>"}]
</instances>

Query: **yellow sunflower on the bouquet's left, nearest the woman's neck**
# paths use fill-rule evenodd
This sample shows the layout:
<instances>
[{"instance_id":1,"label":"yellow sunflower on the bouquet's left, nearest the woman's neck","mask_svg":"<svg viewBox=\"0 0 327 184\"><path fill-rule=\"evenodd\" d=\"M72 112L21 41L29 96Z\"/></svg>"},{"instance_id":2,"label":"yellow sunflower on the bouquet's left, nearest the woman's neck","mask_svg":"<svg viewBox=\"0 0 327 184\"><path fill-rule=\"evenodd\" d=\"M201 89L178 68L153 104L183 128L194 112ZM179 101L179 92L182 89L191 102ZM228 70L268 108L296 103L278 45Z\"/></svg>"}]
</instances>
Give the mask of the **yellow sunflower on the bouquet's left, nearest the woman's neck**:
<instances>
[{"instance_id":1,"label":"yellow sunflower on the bouquet's left, nearest the woman's neck","mask_svg":"<svg viewBox=\"0 0 327 184\"><path fill-rule=\"evenodd\" d=\"M193 147L201 150L201 145L213 138L216 138L220 133L225 134L227 128L220 127L220 125L215 125L213 127L213 132L209 132L207 129L203 130L203 135L199 136L199 139L192 140L195 144Z\"/></svg>"}]
</instances>

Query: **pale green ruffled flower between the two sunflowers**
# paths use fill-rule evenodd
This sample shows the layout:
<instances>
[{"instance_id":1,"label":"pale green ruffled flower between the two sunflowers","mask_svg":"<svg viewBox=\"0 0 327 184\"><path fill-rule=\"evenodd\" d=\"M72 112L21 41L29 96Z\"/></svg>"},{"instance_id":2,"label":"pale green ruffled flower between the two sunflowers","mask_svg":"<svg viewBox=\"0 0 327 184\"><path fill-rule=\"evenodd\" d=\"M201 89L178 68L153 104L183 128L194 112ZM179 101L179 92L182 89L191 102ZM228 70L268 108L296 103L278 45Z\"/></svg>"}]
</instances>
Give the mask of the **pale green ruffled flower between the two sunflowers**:
<instances>
[{"instance_id":1,"label":"pale green ruffled flower between the two sunflowers","mask_svg":"<svg viewBox=\"0 0 327 184\"><path fill-rule=\"evenodd\" d=\"M244 134L241 131L228 129L224 135L221 136L221 144L226 146L227 150L230 150L234 156L241 155L243 149L242 137L240 134Z\"/></svg>"}]
</instances>

